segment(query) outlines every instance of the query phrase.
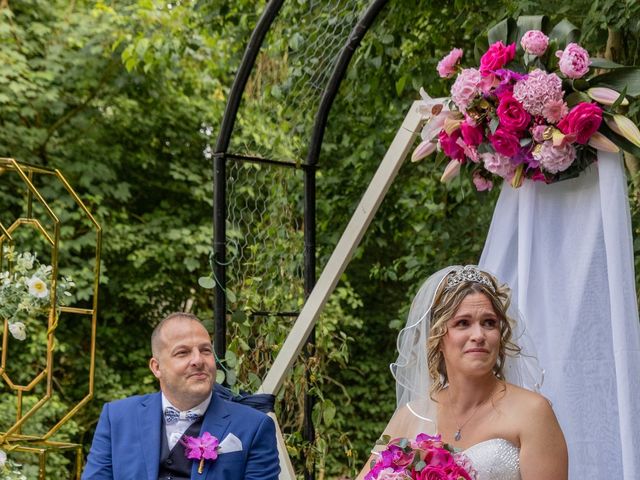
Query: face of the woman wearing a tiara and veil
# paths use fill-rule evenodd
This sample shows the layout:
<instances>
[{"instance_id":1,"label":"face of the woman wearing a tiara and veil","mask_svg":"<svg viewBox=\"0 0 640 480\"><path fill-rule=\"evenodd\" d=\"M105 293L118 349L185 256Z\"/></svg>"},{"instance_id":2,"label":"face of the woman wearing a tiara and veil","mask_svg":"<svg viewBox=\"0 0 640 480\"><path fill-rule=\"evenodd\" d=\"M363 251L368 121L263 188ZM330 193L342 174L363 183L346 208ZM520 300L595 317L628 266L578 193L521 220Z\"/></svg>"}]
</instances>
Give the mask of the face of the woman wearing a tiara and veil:
<instances>
[{"instance_id":1,"label":"face of the woman wearing a tiara and veil","mask_svg":"<svg viewBox=\"0 0 640 480\"><path fill-rule=\"evenodd\" d=\"M449 378L492 372L500 350L500 318L482 293L471 293L447 322L440 349Z\"/></svg>"}]
</instances>

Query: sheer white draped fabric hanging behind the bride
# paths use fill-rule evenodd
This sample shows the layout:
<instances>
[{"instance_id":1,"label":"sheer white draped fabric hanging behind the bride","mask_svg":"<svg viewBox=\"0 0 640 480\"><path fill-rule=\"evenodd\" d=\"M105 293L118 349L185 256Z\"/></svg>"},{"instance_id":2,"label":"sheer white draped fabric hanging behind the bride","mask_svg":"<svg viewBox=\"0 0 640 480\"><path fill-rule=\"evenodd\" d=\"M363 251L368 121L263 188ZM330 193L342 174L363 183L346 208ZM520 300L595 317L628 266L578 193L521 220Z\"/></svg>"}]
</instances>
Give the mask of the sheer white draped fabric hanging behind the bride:
<instances>
[{"instance_id":1,"label":"sheer white draped fabric hanging behind the bride","mask_svg":"<svg viewBox=\"0 0 640 480\"><path fill-rule=\"evenodd\" d=\"M640 324L626 178L504 186L479 265L514 291L569 448L571 480L640 478Z\"/></svg>"}]
</instances>

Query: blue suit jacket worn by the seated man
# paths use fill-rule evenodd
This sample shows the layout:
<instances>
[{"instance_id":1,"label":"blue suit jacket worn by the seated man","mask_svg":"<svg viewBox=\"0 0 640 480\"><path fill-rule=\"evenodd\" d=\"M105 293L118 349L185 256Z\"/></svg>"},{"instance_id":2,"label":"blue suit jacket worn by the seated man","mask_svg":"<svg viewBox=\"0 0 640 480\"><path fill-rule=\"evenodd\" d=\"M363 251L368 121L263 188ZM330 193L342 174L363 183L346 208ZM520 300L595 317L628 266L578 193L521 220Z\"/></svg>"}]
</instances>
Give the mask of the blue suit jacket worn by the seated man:
<instances>
[{"instance_id":1,"label":"blue suit jacket worn by the seated man","mask_svg":"<svg viewBox=\"0 0 640 480\"><path fill-rule=\"evenodd\" d=\"M162 396L158 393L105 404L93 437L83 480L158 480ZM233 433L242 451L205 461L192 480L277 480L280 473L273 420L257 410L213 395L200 433L220 441Z\"/></svg>"}]
</instances>

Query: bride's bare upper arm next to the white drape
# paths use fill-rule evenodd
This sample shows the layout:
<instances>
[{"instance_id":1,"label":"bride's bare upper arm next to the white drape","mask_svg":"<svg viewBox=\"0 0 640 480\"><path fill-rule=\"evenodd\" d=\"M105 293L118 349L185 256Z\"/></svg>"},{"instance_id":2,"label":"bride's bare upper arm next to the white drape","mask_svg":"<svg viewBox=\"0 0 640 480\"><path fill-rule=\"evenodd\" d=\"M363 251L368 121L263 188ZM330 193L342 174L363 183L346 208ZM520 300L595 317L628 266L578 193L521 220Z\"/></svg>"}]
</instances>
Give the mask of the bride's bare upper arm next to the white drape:
<instances>
[{"instance_id":1,"label":"bride's bare upper arm next to the white drape","mask_svg":"<svg viewBox=\"0 0 640 480\"><path fill-rule=\"evenodd\" d=\"M528 410L520 435L522 480L567 480L567 444L551 405L536 396Z\"/></svg>"}]
</instances>

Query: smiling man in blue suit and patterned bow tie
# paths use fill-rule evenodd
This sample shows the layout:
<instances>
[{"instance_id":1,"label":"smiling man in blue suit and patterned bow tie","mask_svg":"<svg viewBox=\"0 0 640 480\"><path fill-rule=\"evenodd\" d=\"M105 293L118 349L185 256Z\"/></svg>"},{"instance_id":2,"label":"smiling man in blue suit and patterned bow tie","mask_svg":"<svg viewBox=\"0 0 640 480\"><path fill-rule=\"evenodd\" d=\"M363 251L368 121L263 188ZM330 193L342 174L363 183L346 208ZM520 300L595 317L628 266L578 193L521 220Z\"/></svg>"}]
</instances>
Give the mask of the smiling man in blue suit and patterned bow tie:
<instances>
[{"instance_id":1,"label":"smiling man in blue suit and patterned bow tie","mask_svg":"<svg viewBox=\"0 0 640 480\"><path fill-rule=\"evenodd\" d=\"M197 317L173 313L151 335L160 392L105 404L83 480L276 480L273 421L213 393L211 339ZM217 458L187 458L184 436L215 437ZM182 441L181 441L182 440Z\"/></svg>"}]
</instances>

